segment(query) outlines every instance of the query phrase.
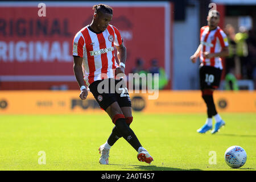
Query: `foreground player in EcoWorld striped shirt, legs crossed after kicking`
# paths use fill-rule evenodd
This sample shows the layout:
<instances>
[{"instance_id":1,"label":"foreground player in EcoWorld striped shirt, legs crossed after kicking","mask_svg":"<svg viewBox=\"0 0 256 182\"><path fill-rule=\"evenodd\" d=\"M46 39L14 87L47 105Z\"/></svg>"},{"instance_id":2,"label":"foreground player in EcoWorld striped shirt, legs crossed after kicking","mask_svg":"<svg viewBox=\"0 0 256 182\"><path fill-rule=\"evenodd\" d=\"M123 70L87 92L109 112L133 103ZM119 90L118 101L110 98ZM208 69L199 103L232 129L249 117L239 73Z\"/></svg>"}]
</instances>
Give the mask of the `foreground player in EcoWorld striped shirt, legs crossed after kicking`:
<instances>
[{"instance_id":1,"label":"foreground player in EcoWorld striped shirt, legs crossed after kicking","mask_svg":"<svg viewBox=\"0 0 256 182\"><path fill-rule=\"evenodd\" d=\"M94 5L93 10L92 23L77 32L73 40L73 69L81 90L79 97L84 100L88 96L85 81L100 107L109 114L115 125L106 143L99 148L99 162L109 164L110 147L123 137L138 151L139 161L151 163L153 158L130 128L133 115L128 90L122 79L115 79L115 75L125 73L126 47L118 29L109 24L113 9L100 4ZM117 48L119 64L115 61L114 47ZM102 89L104 92L101 92ZM93 122L97 125L97 121Z\"/></svg>"}]
</instances>

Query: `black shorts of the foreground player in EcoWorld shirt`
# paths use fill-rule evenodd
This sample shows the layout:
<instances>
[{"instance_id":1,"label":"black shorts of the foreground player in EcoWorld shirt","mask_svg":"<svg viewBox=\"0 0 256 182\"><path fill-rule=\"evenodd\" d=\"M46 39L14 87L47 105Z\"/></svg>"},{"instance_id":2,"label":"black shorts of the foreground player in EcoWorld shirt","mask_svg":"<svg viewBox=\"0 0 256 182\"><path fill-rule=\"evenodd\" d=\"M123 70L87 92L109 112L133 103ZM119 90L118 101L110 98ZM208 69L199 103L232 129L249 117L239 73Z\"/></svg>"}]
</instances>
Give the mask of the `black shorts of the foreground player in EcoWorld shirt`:
<instances>
[{"instance_id":1,"label":"black shorts of the foreground player in EcoWorld shirt","mask_svg":"<svg viewBox=\"0 0 256 182\"><path fill-rule=\"evenodd\" d=\"M104 110L113 102L117 102L120 107L131 107L131 100L128 89L123 80L108 78L97 80L89 85L90 92Z\"/></svg>"}]
</instances>

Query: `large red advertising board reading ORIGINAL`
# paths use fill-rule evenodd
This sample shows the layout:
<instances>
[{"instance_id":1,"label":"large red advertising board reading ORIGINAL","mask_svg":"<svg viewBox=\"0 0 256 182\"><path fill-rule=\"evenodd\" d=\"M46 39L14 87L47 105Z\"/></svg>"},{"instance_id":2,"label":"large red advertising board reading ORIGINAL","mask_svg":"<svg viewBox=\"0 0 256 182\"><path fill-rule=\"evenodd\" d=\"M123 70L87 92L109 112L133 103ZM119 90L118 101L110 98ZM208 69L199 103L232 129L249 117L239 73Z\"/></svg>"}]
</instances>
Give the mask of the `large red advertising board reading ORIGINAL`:
<instances>
[{"instance_id":1,"label":"large red advertising board reading ORIGINAL","mask_svg":"<svg viewBox=\"0 0 256 182\"><path fill-rule=\"evenodd\" d=\"M72 41L92 22L93 2L0 3L0 89L78 89L73 75ZM127 48L126 73L137 58L145 68L157 59L171 78L171 4L109 2L113 24ZM154 12L154 13L152 13ZM117 56L116 56L117 57Z\"/></svg>"}]
</instances>

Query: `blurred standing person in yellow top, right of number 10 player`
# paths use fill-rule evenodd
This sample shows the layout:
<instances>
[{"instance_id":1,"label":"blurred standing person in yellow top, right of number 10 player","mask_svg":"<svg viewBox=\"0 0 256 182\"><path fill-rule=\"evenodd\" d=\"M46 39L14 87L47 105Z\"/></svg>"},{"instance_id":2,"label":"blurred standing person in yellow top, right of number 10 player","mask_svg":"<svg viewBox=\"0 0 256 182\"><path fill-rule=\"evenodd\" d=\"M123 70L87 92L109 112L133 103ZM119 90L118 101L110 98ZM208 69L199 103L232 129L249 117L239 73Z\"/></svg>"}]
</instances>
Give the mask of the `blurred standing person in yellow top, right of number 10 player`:
<instances>
[{"instance_id":1,"label":"blurred standing person in yellow top, right of number 10 player","mask_svg":"<svg viewBox=\"0 0 256 182\"><path fill-rule=\"evenodd\" d=\"M242 78L247 79L247 56L248 56L248 48L246 39L248 38L248 33L245 27L240 27L239 31L235 36L235 41L237 43L237 56L240 58L241 62L241 73Z\"/></svg>"}]
</instances>

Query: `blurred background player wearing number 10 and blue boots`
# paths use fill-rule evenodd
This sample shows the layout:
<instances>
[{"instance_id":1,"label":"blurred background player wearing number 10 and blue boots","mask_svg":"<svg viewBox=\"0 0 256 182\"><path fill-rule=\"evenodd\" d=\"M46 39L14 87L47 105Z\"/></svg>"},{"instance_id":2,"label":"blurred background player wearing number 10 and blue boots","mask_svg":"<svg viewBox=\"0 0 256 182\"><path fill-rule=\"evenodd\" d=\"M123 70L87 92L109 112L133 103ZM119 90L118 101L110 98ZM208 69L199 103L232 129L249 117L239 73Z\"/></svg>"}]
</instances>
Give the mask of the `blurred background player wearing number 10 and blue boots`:
<instances>
[{"instance_id":1,"label":"blurred background player wearing number 10 and blue boots","mask_svg":"<svg viewBox=\"0 0 256 182\"><path fill-rule=\"evenodd\" d=\"M190 57L192 63L200 56L200 89L202 97L207 105L207 121L203 127L197 130L205 133L212 129L212 117L216 123L212 134L216 133L225 122L216 111L213 101L213 90L220 85L222 73L222 60L220 57L228 56L228 39L225 33L218 27L220 13L216 10L209 11L207 16L208 26L200 30L200 45Z\"/></svg>"}]
</instances>

